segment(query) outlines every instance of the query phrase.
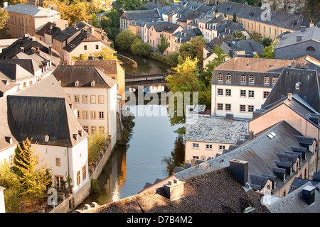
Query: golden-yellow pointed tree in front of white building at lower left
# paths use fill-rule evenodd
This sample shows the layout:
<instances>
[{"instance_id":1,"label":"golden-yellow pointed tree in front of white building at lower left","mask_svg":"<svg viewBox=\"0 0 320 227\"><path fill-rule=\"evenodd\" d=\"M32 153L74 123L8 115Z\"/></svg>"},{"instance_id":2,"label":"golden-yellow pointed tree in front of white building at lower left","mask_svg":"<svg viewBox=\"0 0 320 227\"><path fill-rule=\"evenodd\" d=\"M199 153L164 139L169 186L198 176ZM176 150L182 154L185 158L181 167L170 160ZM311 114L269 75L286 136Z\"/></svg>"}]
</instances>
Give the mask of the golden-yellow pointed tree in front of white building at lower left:
<instances>
[{"instance_id":1,"label":"golden-yellow pointed tree in front of white building at lower left","mask_svg":"<svg viewBox=\"0 0 320 227\"><path fill-rule=\"evenodd\" d=\"M32 138L31 138L32 140ZM19 153L15 155L14 164L18 168L21 175L18 179L21 184L21 196L27 196L33 204L33 199L43 198L46 193L46 187L51 182L51 175L48 175L45 165L40 165L43 160L31 147L31 140L26 138L22 141L22 146L18 145ZM37 145L38 143L35 143Z\"/></svg>"}]
</instances>

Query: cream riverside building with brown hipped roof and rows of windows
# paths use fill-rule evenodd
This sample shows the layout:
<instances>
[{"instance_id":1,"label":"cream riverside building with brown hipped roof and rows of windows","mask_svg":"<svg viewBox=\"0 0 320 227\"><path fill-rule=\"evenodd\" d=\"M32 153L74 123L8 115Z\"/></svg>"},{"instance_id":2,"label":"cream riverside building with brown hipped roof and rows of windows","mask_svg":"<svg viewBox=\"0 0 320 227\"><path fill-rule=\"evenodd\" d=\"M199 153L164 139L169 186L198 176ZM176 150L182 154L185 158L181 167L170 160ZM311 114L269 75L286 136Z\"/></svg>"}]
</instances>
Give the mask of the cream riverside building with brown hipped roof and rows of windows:
<instances>
[{"instance_id":1,"label":"cream riverside building with brown hipped roof and rows of windows","mask_svg":"<svg viewBox=\"0 0 320 227\"><path fill-rule=\"evenodd\" d=\"M60 65L53 72L78 106L78 121L89 134L102 131L117 142L117 80L92 65Z\"/></svg>"}]
</instances>

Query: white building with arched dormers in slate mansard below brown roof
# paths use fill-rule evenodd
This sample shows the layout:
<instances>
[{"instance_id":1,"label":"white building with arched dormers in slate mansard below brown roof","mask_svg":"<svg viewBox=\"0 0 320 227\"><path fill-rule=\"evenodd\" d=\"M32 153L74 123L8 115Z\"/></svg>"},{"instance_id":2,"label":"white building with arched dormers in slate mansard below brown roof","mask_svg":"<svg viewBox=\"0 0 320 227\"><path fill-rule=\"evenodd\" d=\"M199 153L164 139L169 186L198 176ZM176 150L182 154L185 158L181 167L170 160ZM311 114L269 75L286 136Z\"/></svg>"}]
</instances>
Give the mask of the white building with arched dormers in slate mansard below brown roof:
<instances>
[{"instance_id":1,"label":"white building with arched dormers in slate mansard below brown roof","mask_svg":"<svg viewBox=\"0 0 320 227\"><path fill-rule=\"evenodd\" d=\"M304 60L296 60L296 65ZM213 70L211 114L252 118L260 109L284 67L292 60L233 57Z\"/></svg>"}]
</instances>

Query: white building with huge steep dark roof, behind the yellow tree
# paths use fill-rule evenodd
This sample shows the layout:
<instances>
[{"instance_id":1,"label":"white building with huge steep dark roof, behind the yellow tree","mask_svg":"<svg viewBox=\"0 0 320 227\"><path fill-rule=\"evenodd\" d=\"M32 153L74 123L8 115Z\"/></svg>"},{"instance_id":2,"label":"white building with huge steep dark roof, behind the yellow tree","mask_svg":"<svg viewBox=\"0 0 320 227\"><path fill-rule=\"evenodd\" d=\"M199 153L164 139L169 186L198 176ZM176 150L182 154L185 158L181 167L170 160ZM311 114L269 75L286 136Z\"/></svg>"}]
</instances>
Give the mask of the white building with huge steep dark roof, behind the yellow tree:
<instances>
[{"instance_id":1,"label":"white building with huge steep dark roof, behind the yellow tree","mask_svg":"<svg viewBox=\"0 0 320 227\"><path fill-rule=\"evenodd\" d=\"M36 152L51 168L52 187L63 189L63 181L70 177L76 193L89 182L87 133L53 76L2 97L0 105L1 116L6 118L1 121L1 161L6 159L12 165L16 145L32 138Z\"/></svg>"}]
</instances>

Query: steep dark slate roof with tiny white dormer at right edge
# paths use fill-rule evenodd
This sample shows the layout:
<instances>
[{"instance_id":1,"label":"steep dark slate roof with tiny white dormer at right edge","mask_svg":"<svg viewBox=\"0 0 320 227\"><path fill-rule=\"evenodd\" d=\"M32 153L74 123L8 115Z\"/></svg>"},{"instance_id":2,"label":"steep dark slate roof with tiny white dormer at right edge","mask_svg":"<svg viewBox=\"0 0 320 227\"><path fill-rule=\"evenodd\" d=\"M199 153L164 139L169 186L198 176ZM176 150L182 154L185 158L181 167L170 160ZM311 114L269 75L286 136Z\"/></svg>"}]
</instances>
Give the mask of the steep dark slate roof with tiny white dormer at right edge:
<instances>
[{"instance_id":1,"label":"steep dark slate roof with tiny white dormer at right edge","mask_svg":"<svg viewBox=\"0 0 320 227\"><path fill-rule=\"evenodd\" d=\"M297 83L301 84L299 89L295 87ZM320 78L316 71L284 68L262 108L287 96L288 93L299 95L317 112L320 111Z\"/></svg>"}]
</instances>

